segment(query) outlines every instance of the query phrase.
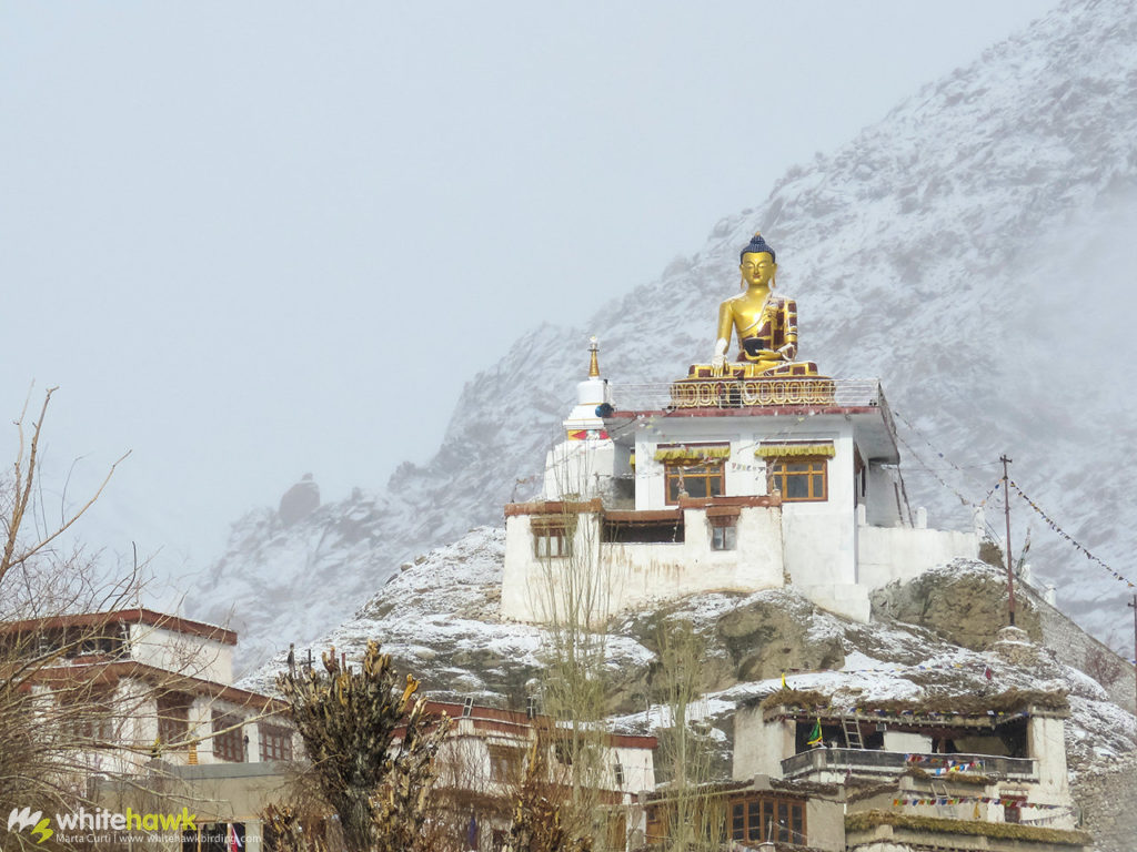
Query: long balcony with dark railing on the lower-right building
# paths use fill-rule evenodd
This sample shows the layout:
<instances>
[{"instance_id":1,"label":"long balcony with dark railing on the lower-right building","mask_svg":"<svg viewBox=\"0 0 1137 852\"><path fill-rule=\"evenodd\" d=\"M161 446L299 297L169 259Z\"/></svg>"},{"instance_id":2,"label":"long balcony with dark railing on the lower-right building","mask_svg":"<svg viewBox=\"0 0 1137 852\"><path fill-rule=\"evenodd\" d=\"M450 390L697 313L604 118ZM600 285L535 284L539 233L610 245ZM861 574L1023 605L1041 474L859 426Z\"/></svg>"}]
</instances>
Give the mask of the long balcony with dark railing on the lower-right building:
<instances>
[{"instance_id":1,"label":"long balcony with dark railing on the lower-right building","mask_svg":"<svg viewBox=\"0 0 1137 852\"><path fill-rule=\"evenodd\" d=\"M913 761L912 758L919 758ZM896 777L905 769L924 771L946 769L949 765L977 763L961 771L995 775L1009 780L1038 780L1037 761L1029 758L1003 758L991 754L905 754L899 751L866 749L812 749L781 762L782 777L804 779L814 774L855 772Z\"/></svg>"}]
</instances>

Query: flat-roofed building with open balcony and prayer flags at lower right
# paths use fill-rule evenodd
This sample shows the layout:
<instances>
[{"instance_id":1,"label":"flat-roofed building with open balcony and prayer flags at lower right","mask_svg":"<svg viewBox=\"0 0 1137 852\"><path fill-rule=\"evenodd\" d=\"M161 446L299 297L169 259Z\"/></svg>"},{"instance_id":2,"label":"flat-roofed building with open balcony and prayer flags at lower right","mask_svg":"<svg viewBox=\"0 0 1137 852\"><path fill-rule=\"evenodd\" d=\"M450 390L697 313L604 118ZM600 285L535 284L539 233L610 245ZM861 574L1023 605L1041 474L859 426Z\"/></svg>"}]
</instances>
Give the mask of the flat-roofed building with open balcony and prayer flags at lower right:
<instances>
[{"instance_id":1,"label":"flat-roofed building with open balcony and prayer flags at lower right","mask_svg":"<svg viewBox=\"0 0 1137 852\"><path fill-rule=\"evenodd\" d=\"M1068 717L1051 693L841 707L781 690L738 709L733 777L839 788L843 836L819 849L1070 852L1089 838L1076 830Z\"/></svg>"}]
</instances>

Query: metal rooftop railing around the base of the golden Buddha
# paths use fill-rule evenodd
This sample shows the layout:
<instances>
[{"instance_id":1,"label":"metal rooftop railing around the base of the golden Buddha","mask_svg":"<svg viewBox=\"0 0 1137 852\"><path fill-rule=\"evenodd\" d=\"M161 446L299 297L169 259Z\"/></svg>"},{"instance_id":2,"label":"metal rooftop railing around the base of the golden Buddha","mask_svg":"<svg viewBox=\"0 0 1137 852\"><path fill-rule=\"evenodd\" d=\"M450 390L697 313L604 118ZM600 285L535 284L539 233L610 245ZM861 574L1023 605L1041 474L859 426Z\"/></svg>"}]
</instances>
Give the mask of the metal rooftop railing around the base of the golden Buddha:
<instances>
[{"instance_id":1,"label":"metal rooftop railing around the base of the golden Buddha","mask_svg":"<svg viewBox=\"0 0 1137 852\"><path fill-rule=\"evenodd\" d=\"M677 390L677 387L679 390ZM613 407L621 411L680 411L690 408L745 409L777 406L885 407L875 378L719 378L646 384L613 384Z\"/></svg>"}]
</instances>

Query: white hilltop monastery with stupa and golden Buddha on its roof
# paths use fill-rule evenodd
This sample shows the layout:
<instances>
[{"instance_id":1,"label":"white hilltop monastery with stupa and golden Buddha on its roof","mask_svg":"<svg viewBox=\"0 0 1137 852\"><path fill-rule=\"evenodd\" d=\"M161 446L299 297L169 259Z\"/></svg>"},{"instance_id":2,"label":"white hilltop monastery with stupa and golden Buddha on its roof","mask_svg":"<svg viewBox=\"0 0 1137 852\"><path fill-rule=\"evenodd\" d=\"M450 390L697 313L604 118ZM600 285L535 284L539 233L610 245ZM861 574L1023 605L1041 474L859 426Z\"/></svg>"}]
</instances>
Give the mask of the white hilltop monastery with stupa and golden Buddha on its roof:
<instances>
[{"instance_id":1,"label":"white hilltop monastery with stupa and golden Buddha on its roof","mask_svg":"<svg viewBox=\"0 0 1137 852\"><path fill-rule=\"evenodd\" d=\"M757 235L744 250L749 287L720 309L715 358L684 378L613 386L594 340L542 499L505 508L504 616L556 620L584 586L590 618L603 618L792 584L868 621L873 588L978 556L981 517L952 532L910 509L880 383L792 360L796 306L750 264L772 257ZM729 362L732 331L740 351Z\"/></svg>"}]
</instances>

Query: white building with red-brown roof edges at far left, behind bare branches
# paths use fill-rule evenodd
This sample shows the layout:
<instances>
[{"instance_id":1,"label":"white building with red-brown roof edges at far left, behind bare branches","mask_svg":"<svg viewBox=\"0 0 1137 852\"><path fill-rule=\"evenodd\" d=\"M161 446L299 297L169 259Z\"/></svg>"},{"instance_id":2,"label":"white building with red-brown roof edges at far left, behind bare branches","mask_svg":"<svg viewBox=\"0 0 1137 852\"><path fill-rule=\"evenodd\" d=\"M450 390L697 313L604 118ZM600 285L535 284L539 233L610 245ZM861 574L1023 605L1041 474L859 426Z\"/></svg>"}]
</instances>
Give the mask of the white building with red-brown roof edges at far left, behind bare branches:
<instances>
[{"instance_id":1,"label":"white building with red-brown roof edges at far left, behind bare branches","mask_svg":"<svg viewBox=\"0 0 1137 852\"><path fill-rule=\"evenodd\" d=\"M258 852L258 815L283 801L300 744L282 702L233 686L235 644L232 630L147 609L0 626L8 659L31 673L27 712L61 791L27 804L56 805L57 840L175 850L190 824L185 849L229 852L236 837Z\"/></svg>"}]
</instances>

